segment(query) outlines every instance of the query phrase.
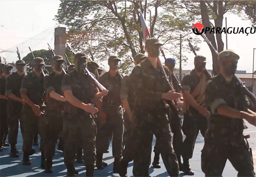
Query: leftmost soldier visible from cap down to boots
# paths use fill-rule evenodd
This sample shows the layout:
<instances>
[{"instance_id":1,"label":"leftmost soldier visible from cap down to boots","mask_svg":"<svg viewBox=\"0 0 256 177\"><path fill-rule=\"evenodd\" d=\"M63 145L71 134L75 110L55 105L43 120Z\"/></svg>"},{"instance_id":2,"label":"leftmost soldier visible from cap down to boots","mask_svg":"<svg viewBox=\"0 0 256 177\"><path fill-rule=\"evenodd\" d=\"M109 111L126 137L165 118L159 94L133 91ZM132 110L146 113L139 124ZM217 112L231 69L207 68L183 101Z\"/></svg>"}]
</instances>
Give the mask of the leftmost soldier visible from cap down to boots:
<instances>
[{"instance_id":1,"label":"leftmost soldier visible from cap down to boots","mask_svg":"<svg viewBox=\"0 0 256 177\"><path fill-rule=\"evenodd\" d=\"M19 157L16 149L17 137L19 131L20 113L25 103L20 96L21 81L25 76L26 63L23 60L16 61L17 71L10 74L6 80L5 96L8 97L7 102L7 122L9 125L8 142L11 145L10 157Z\"/></svg>"}]
</instances>

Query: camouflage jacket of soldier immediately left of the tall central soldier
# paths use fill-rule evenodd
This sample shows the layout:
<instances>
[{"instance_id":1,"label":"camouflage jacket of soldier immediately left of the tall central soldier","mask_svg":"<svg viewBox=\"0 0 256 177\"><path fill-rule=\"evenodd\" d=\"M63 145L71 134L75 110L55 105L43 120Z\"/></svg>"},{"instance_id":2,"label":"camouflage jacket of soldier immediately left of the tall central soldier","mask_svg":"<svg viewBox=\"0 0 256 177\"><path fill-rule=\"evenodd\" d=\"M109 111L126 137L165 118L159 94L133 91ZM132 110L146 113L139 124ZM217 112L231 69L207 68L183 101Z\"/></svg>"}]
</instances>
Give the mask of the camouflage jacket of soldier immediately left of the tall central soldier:
<instances>
[{"instance_id":1,"label":"camouflage jacket of soldier immediately left of the tall central soldier","mask_svg":"<svg viewBox=\"0 0 256 177\"><path fill-rule=\"evenodd\" d=\"M108 95L103 97L103 106L107 104L118 108L121 105L120 92L123 77L123 74L119 72L115 77L111 77L109 72L106 72L99 77L99 82L109 90Z\"/></svg>"}]
</instances>

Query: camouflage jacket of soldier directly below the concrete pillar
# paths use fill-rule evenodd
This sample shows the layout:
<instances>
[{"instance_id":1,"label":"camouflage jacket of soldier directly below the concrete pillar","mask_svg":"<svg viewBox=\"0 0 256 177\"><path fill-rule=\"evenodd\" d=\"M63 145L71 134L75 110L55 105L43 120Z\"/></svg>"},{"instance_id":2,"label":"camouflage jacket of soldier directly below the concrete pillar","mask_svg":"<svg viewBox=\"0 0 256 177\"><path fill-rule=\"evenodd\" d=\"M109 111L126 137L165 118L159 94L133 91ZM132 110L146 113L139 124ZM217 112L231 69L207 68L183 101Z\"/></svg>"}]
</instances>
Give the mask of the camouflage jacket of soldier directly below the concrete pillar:
<instances>
[{"instance_id":1,"label":"camouflage jacket of soldier directly below the concrete pillar","mask_svg":"<svg viewBox=\"0 0 256 177\"><path fill-rule=\"evenodd\" d=\"M50 73L49 75L45 76L44 78L44 87L46 94L48 95L48 100L46 103L47 110L63 110L63 102L55 100L49 93L53 90L57 94L63 95L61 91L61 81L64 76L64 73L58 75L54 72Z\"/></svg>"}]
</instances>

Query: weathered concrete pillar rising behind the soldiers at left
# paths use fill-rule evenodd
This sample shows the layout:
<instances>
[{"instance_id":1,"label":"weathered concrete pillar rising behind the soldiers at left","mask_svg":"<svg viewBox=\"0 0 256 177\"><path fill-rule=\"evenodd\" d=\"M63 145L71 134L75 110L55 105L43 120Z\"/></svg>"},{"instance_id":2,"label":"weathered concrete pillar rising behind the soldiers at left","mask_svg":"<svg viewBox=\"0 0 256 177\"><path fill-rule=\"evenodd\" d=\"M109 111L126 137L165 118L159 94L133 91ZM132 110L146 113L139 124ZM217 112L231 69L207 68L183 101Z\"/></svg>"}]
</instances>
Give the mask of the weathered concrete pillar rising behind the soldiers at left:
<instances>
[{"instance_id":1,"label":"weathered concrete pillar rising behind the soldiers at left","mask_svg":"<svg viewBox=\"0 0 256 177\"><path fill-rule=\"evenodd\" d=\"M66 53L66 28L65 27L58 27L55 28L54 33L54 52L56 55L61 55L64 60L65 53Z\"/></svg>"}]
</instances>

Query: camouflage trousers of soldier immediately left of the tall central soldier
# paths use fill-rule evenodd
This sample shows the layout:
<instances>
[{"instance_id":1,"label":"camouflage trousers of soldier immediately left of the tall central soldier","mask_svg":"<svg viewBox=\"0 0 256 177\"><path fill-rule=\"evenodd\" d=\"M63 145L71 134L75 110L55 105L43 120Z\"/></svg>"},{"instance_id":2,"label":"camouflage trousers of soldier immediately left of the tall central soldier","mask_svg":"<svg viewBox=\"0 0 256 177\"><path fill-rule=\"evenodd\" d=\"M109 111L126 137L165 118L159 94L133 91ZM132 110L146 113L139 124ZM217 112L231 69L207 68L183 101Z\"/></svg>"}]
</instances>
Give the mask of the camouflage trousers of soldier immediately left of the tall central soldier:
<instances>
[{"instance_id":1,"label":"camouflage trousers of soldier immediately left of the tall central soldier","mask_svg":"<svg viewBox=\"0 0 256 177\"><path fill-rule=\"evenodd\" d=\"M124 120L123 111L108 112L105 124L98 124L96 149L97 153L107 153L110 141L114 158L121 158L123 151Z\"/></svg>"}]
</instances>

